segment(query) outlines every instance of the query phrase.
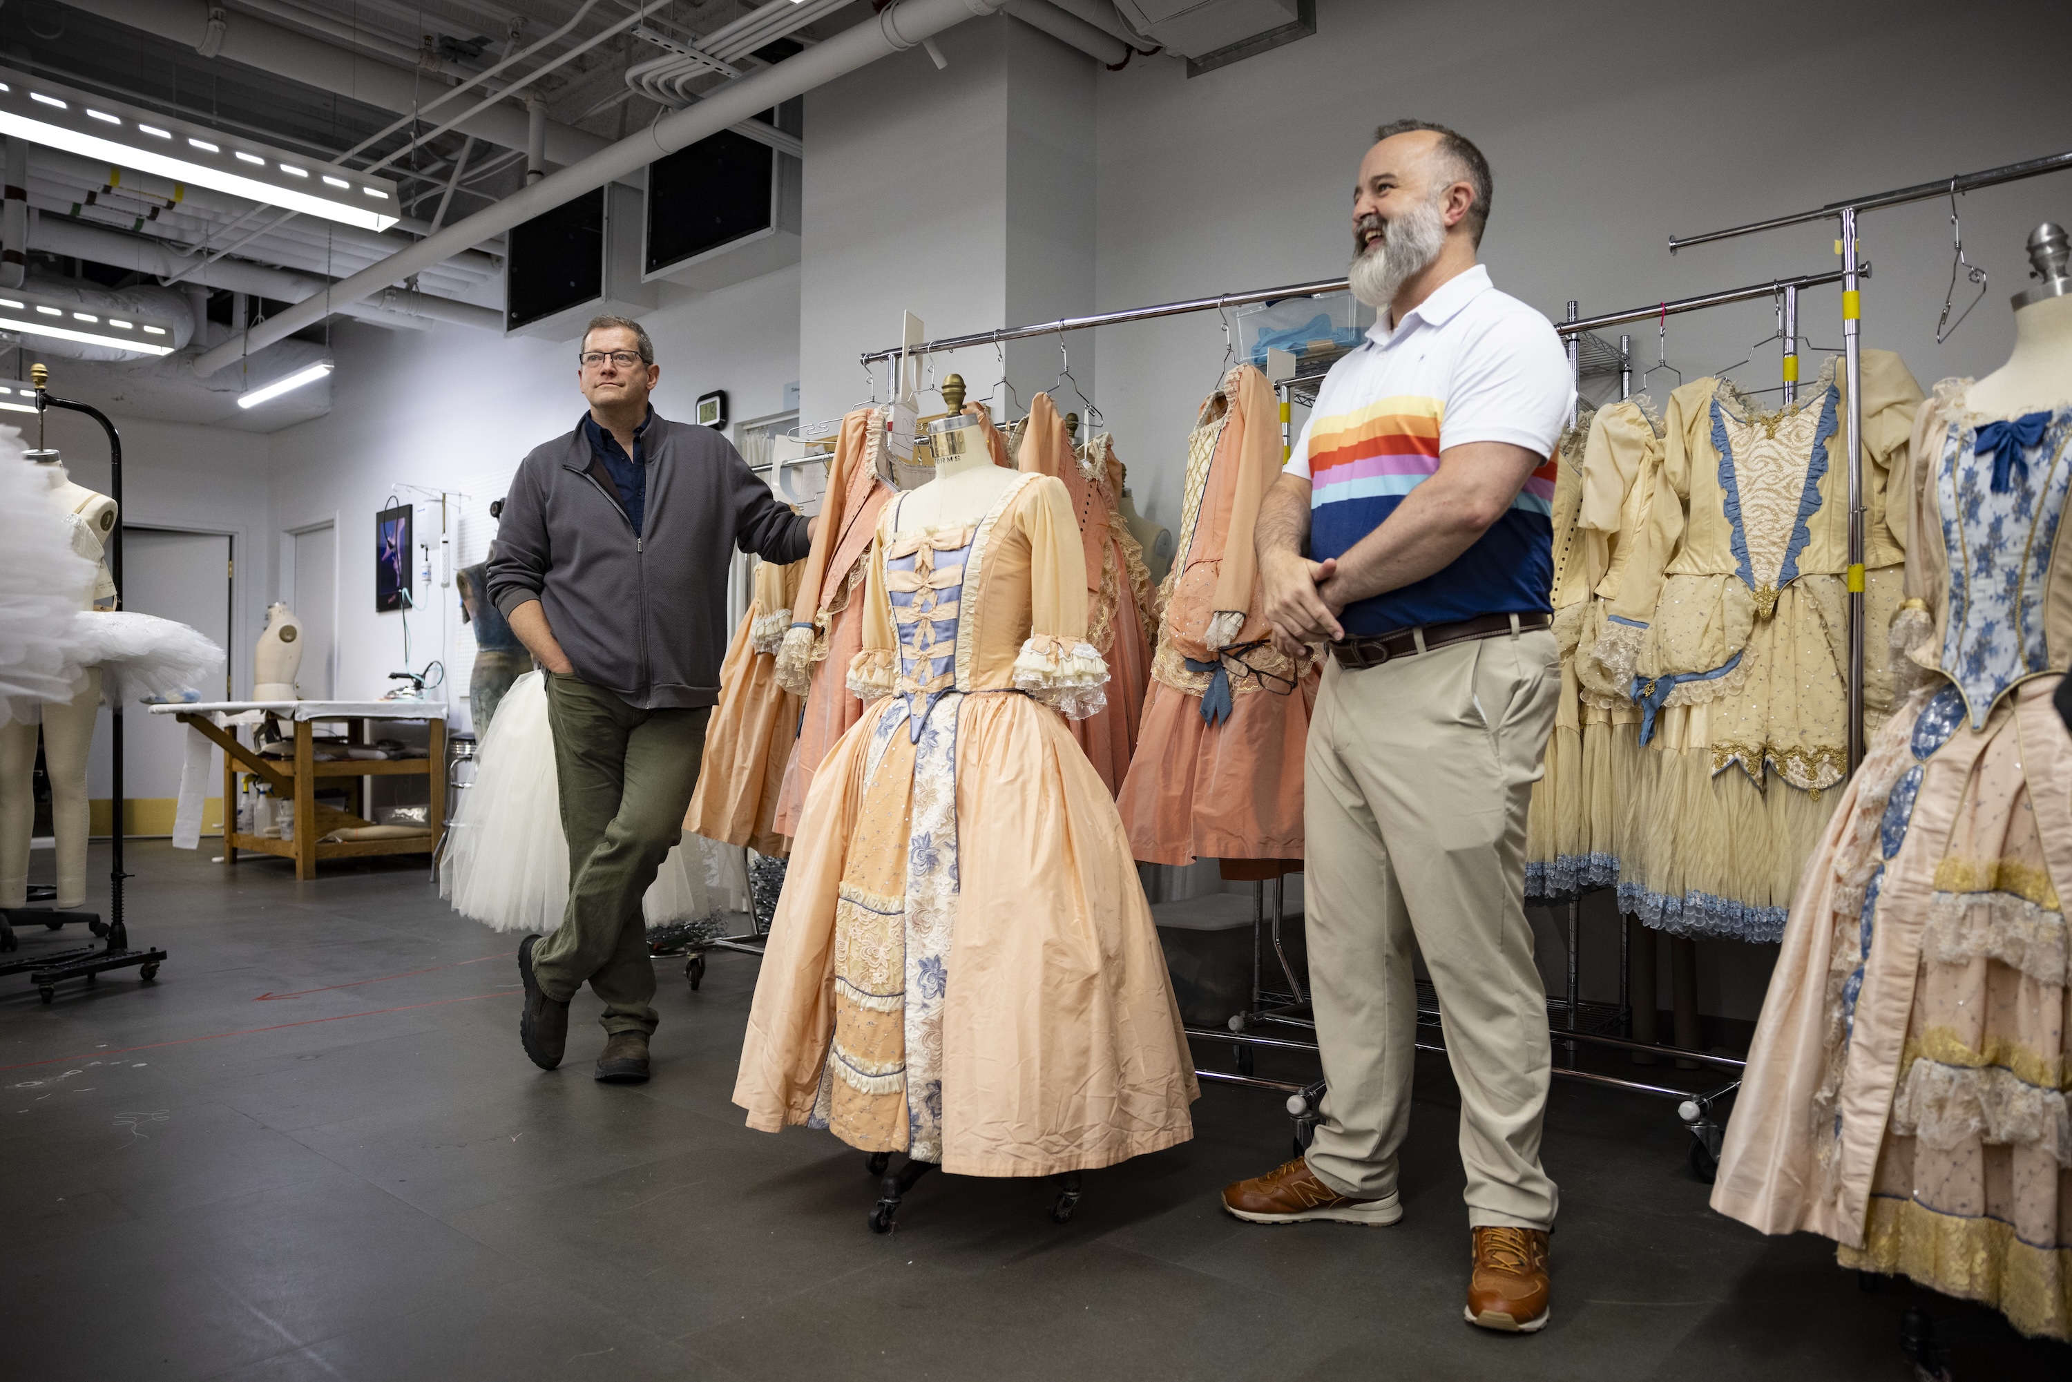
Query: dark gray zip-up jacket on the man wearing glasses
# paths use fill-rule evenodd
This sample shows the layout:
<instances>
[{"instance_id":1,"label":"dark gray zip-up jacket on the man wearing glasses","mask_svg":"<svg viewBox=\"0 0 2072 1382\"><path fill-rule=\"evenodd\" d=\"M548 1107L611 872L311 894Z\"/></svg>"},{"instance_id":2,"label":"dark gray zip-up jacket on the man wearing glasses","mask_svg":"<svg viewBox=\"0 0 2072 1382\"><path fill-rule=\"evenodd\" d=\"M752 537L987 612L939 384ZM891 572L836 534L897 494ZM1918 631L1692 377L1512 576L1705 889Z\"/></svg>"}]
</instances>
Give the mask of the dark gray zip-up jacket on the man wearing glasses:
<instances>
[{"instance_id":1,"label":"dark gray zip-up jacket on the man wearing glasses","mask_svg":"<svg viewBox=\"0 0 2072 1382\"><path fill-rule=\"evenodd\" d=\"M524 458L489 551L489 599L506 617L537 599L576 675L628 704L715 704L731 551L798 562L806 520L711 427L657 414L640 443L642 532L580 421Z\"/></svg>"}]
</instances>

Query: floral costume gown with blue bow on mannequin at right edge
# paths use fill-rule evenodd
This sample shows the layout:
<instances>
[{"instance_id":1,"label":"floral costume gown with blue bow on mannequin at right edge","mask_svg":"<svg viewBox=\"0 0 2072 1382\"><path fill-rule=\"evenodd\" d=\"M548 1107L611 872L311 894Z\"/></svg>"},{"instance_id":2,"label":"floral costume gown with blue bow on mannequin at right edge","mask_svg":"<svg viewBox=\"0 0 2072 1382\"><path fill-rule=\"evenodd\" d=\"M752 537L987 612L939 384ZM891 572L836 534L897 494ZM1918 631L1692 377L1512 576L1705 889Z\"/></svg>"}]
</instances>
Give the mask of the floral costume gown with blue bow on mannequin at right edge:
<instances>
[{"instance_id":1,"label":"floral costume gown with blue bow on mannequin at right edge","mask_svg":"<svg viewBox=\"0 0 2072 1382\"><path fill-rule=\"evenodd\" d=\"M1966 387L1894 474L1892 646L1929 684L1807 868L1711 1204L2072 1338L2072 406L1989 419Z\"/></svg>"}]
</instances>

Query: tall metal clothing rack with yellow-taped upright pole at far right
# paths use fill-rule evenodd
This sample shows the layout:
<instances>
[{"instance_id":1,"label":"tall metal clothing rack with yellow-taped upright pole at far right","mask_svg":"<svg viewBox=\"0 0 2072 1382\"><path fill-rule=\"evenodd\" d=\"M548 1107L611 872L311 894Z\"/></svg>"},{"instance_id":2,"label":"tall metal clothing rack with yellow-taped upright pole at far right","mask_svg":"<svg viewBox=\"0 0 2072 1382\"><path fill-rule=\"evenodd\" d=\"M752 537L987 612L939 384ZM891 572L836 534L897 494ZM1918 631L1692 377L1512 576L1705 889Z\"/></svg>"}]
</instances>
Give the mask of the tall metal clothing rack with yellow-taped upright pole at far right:
<instances>
[{"instance_id":1,"label":"tall metal clothing rack with yellow-taped upright pole at far right","mask_svg":"<svg viewBox=\"0 0 2072 1382\"><path fill-rule=\"evenodd\" d=\"M1772 215L1769 220L1749 222L1747 226L1728 226L1726 230L1707 230L1705 234L1693 236L1670 236L1670 253L1693 244L1711 244L1716 240L1732 240L1745 234L1761 234L1765 230L1782 230L1784 226L1805 226L1807 222L1834 220L1840 226L1840 238L1836 238L1836 255L1842 257L1842 367L1848 377L1848 771L1854 773L1857 765L1863 762L1863 549L1865 549L1865 508L1863 508L1863 354L1861 354L1861 327L1863 327L1863 296L1859 292L1857 280L1869 278L1869 265L1859 271L1857 265L1857 215L1863 211L1881 211L1886 207L1902 207L1912 201L1929 201L1933 197L1950 197L1956 201L1958 193L1977 191L1981 186L1999 186L2002 182L2020 182L2022 178L2035 178L2045 172L2066 172L2072 170L2072 151L2049 153L2045 157L2031 157L2020 164L2002 164L1999 168L1985 168L1981 172L1960 172L1952 178L1939 182L1915 182L1912 186L1898 186L1886 193L1873 193L1869 197L1852 197L1848 201L1830 201L1823 207L1811 211L1794 211L1790 215ZM1786 379L1790 383L1790 379Z\"/></svg>"}]
</instances>

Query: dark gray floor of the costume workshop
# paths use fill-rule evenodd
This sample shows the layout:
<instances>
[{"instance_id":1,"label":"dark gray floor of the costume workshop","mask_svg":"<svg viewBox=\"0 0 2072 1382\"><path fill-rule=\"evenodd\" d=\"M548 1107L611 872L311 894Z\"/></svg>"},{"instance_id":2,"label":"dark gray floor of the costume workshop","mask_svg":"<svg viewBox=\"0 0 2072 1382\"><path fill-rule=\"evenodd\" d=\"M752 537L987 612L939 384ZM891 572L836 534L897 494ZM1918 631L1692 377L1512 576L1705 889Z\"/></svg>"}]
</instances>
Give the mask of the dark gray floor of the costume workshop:
<instances>
[{"instance_id":1,"label":"dark gray floor of the costume workshop","mask_svg":"<svg viewBox=\"0 0 2072 1382\"><path fill-rule=\"evenodd\" d=\"M44 1007L0 980L6 1376L1904 1382L1908 1305L1960 1380L2072 1372L1991 1312L1711 1214L1668 1104L1562 1082L1554 1320L1469 1328L1436 1057L1392 1229L1227 1218L1216 1189L1283 1160L1289 1121L1208 1088L1193 1142L1088 1173L1067 1227L1042 1183L928 1177L874 1237L862 1154L727 1102L754 959L717 955L696 995L659 966L655 1079L607 1088L595 1001L568 1065L533 1069L512 939L421 866L226 883L209 843L131 847L133 939L172 953L153 984Z\"/></svg>"}]
</instances>

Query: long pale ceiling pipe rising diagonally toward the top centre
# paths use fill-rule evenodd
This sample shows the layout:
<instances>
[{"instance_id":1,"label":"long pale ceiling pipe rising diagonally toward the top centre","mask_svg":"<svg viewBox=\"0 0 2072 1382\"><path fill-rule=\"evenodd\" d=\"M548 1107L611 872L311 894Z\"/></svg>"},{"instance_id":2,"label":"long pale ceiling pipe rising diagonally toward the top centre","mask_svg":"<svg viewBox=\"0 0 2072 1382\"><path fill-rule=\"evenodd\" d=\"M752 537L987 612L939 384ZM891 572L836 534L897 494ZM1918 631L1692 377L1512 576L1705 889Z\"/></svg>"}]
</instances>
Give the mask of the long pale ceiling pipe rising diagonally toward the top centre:
<instances>
[{"instance_id":1,"label":"long pale ceiling pipe rising diagonally toward the top centre","mask_svg":"<svg viewBox=\"0 0 2072 1382\"><path fill-rule=\"evenodd\" d=\"M520 222L528 222L541 211L549 211L572 197L632 176L655 160L675 153L709 135L717 135L758 110L769 110L794 95L804 95L862 66L895 52L918 48L922 39L959 25L978 15L999 15L1003 0L895 0L879 12L874 21L843 29L825 44L814 44L800 54L767 66L752 77L719 87L696 106L671 112L638 135L628 135L603 153L551 172L533 186L520 189L503 201L454 222L445 230L419 240L400 255L361 269L352 278L336 284L325 305L298 303L271 321L261 323L251 334L257 350L284 336L300 332L313 321L321 321L325 311L336 311L340 303L365 298L390 284L429 269L454 251L466 249L493 234L501 234ZM195 361L195 373L211 375L234 363L240 350L220 346Z\"/></svg>"}]
</instances>

